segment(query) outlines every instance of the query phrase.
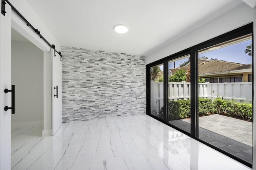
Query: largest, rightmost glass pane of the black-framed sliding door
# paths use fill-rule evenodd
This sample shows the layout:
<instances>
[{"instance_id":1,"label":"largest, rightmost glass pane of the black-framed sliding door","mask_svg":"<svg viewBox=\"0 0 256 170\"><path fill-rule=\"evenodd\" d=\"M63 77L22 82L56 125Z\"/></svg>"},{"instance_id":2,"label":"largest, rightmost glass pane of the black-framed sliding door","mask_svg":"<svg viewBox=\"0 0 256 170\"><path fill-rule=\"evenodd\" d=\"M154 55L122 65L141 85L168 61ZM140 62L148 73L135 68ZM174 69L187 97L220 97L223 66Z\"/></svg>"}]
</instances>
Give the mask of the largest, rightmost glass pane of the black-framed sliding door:
<instances>
[{"instance_id":1,"label":"largest, rightmost glass pane of the black-framed sliding door","mask_svg":"<svg viewBox=\"0 0 256 170\"><path fill-rule=\"evenodd\" d=\"M199 139L252 163L252 35L198 51Z\"/></svg>"}]
</instances>

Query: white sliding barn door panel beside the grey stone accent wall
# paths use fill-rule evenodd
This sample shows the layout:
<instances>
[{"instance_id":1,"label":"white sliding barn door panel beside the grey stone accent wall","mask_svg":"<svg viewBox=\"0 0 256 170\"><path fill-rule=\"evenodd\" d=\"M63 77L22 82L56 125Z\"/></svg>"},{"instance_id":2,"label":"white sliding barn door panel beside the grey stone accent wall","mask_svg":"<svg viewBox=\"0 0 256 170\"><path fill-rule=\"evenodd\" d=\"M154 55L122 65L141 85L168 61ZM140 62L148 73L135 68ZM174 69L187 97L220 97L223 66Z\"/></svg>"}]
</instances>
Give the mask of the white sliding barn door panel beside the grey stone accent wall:
<instances>
[{"instance_id":1,"label":"white sliding barn door panel beside the grey stone accent wall","mask_svg":"<svg viewBox=\"0 0 256 170\"><path fill-rule=\"evenodd\" d=\"M51 50L52 57L52 135L62 125L62 62L60 55Z\"/></svg>"}]
</instances>

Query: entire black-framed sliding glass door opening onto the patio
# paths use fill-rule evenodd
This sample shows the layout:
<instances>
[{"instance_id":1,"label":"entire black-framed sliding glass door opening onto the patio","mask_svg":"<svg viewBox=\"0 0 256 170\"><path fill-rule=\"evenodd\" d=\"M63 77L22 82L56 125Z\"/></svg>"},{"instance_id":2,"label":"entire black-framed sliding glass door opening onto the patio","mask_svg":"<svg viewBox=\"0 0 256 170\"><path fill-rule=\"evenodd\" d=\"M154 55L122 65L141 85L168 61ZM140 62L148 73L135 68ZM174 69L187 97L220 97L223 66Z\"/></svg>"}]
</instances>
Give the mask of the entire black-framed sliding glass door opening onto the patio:
<instances>
[{"instance_id":1,"label":"entire black-framed sliding glass door opening onto the patio","mask_svg":"<svg viewBox=\"0 0 256 170\"><path fill-rule=\"evenodd\" d=\"M252 23L147 65L147 114L252 167Z\"/></svg>"}]
</instances>

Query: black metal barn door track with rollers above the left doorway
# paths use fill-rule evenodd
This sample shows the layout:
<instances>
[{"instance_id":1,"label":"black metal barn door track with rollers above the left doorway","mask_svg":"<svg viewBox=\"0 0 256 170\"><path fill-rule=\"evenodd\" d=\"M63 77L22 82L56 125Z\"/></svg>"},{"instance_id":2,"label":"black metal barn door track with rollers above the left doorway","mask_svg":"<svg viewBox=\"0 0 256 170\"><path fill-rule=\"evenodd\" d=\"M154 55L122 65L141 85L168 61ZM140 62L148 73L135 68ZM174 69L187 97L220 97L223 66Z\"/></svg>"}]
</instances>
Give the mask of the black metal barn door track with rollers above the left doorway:
<instances>
[{"instance_id":1,"label":"black metal barn door track with rollers above the left doorway","mask_svg":"<svg viewBox=\"0 0 256 170\"><path fill-rule=\"evenodd\" d=\"M35 31L36 34L38 34L38 36L40 38L42 38L44 40L44 42L46 42L48 44L49 47L51 47L52 49L54 49L55 52L58 53L58 55L60 55L60 61L62 61L62 55L60 53L60 51L56 51L55 49L55 45L51 45L40 33L40 31L38 29L36 29L35 27L33 27L33 25L31 25L31 23L28 22L28 20L26 20L26 18L24 18L24 16L22 16L22 14L20 14L20 12L18 12L18 10L8 1L8 0L2 0L1 3L1 13L5 16L5 5L9 4L12 8L12 10L27 24L28 27L30 27L31 29L33 29L33 31Z\"/></svg>"}]
</instances>

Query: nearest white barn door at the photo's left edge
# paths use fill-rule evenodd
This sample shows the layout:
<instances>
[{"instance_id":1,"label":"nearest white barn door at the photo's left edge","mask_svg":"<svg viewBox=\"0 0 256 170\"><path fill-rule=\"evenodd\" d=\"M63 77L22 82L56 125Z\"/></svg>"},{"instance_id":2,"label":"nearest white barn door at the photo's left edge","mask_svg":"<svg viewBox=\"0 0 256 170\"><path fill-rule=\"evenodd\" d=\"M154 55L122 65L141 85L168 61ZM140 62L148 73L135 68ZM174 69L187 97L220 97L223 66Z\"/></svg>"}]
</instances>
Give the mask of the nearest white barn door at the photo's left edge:
<instances>
[{"instance_id":1,"label":"nearest white barn door at the photo's left edge","mask_svg":"<svg viewBox=\"0 0 256 170\"><path fill-rule=\"evenodd\" d=\"M0 13L0 170L11 169L11 7L5 6L6 14Z\"/></svg>"}]
</instances>

